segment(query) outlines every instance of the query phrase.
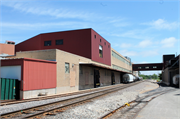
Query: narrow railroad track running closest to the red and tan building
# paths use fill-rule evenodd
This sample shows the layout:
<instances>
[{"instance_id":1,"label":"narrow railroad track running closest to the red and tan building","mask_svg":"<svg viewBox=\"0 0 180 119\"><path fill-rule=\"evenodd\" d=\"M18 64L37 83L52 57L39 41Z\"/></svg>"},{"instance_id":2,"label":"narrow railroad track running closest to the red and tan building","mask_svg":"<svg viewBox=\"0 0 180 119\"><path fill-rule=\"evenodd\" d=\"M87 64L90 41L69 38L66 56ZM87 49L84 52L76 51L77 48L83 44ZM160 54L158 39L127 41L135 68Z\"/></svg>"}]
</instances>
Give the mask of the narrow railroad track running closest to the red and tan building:
<instances>
[{"instance_id":1,"label":"narrow railroad track running closest to the red and tan building","mask_svg":"<svg viewBox=\"0 0 180 119\"><path fill-rule=\"evenodd\" d=\"M81 90L78 92L58 94L58 95L52 95L52 96L42 96L42 97L38 97L38 98L31 98L31 99L24 99L24 100L3 100L3 101L1 101L0 106L24 103L24 102L47 100L47 99L54 99L54 98L60 98L60 97L67 97L67 96L72 96L72 95L77 95L77 94L88 93L88 92L92 92L92 91L98 91L98 90L102 90L102 89L110 89L110 88L122 86L122 85L125 85L125 84L111 85L111 86L105 86L105 87L100 87L100 88Z\"/></svg>"}]
</instances>

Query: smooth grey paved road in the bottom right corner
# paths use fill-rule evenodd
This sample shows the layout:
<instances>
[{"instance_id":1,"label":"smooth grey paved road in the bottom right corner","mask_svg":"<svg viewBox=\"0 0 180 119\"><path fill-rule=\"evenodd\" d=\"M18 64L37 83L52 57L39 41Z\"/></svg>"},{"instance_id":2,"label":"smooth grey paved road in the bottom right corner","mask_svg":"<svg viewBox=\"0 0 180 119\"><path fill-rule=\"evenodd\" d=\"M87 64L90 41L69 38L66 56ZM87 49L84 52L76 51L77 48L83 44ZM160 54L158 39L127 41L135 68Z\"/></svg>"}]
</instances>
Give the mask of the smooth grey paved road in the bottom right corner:
<instances>
[{"instance_id":1,"label":"smooth grey paved road in the bottom right corner","mask_svg":"<svg viewBox=\"0 0 180 119\"><path fill-rule=\"evenodd\" d=\"M153 99L135 119L180 119L180 89Z\"/></svg>"}]
</instances>

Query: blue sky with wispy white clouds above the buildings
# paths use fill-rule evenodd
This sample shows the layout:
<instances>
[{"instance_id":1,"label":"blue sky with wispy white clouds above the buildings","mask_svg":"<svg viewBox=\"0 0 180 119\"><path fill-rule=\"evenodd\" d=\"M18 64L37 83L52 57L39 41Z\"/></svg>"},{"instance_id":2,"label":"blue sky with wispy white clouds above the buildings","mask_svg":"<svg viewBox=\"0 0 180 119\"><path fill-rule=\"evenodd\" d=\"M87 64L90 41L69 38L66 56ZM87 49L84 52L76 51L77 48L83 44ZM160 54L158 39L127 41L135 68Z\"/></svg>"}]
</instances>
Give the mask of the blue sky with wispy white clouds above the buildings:
<instances>
[{"instance_id":1,"label":"blue sky with wispy white clouds above the buildings","mask_svg":"<svg viewBox=\"0 0 180 119\"><path fill-rule=\"evenodd\" d=\"M0 43L85 28L133 63L161 63L180 54L180 0L0 0Z\"/></svg>"}]
</instances>

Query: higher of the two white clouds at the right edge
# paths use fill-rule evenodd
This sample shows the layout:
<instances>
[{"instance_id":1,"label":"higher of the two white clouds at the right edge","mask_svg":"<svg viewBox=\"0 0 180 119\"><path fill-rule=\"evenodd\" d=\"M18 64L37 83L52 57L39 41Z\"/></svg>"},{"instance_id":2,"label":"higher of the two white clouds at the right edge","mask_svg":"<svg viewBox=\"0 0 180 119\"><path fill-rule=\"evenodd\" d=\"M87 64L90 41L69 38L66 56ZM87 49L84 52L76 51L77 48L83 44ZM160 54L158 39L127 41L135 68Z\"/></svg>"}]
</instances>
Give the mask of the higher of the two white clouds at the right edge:
<instances>
[{"instance_id":1,"label":"higher of the two white clouds at the right edge","mask_svg":"<svg viewBox=\"0 0 180 119\"><path fill-rule=\"evenodd\" d=\"M161 29L167 29L167 30L172 30L172 29L177 29L178 28L178 22L167 22L163 19L158 19L156 21L152 21L149 23L142 23L144 25L149 25L152 28L161 30Z\"/></svg>"}]
</instances>

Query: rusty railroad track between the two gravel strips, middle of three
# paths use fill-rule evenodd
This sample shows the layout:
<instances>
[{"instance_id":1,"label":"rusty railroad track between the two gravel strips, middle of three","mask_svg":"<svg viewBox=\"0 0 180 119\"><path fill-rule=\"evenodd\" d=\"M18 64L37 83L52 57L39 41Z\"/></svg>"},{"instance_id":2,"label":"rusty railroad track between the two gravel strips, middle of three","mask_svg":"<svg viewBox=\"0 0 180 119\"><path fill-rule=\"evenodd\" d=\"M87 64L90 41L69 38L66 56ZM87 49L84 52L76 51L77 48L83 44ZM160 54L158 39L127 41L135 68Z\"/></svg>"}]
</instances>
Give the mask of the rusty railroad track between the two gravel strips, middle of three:
<instances>
[{"instance_id":1,"label":"rusty railroad track between the two gravel strips, middle of three","mask_svg":"<svg viewBox=\"0 0 180 119\"><path fill-rule=\"evenodd\" d=\"M103 89L99 91L93 91L85 94L80 94L78 96L72 96L68 99L63 99L57 102L52 102L44 105L39 105L31 108L26 108L23 110L17 110L13 112L8 112L1 114L1 118L43 118L46 115L56 115L59 112L63 112L69 107L80 105L82 103L89 102L91 99L95 99L106 94L122 90L124 88L136 85L141 83L142 81L138 81L135 83L130 83L126 85L122 85L121 87L117 86L112 89Z\"/></svg>"}]
</instances>

